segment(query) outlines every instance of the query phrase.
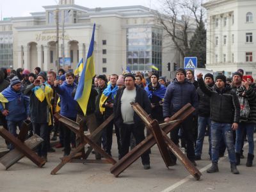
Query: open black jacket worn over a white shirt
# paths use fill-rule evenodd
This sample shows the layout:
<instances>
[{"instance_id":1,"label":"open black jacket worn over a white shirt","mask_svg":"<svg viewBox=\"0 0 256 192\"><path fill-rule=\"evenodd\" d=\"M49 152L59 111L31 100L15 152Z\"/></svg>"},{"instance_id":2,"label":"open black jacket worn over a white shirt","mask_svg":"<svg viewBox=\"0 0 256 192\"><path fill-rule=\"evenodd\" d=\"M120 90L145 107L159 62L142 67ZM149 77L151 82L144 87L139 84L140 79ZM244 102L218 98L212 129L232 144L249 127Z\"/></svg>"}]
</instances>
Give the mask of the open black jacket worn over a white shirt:
<instances>
[{"instance_id":1,"label":"open black jacket worn over a white shirt","mask_svg":"<svg viewBox=\"0 0 256 192\"><path fill-rule=\"evenodd\" d=\"M117 91L116 97L114 100L114 115L115 115L114 122L115 122L115 125L117 125L118 127L122 127L122 124L124 122L122 118L122 113L121 113L121 97L124 93L124 89L125 87ZM145 90L141 89L137 85L136 85L135 102L138 102L141 108L143 108L148 114L151 113L151 104L150 104L150 100L148 99L148 94ZM140 116L138 116L137 113L135 112L134 112L133 120L136 127L143 125L143 121L141 120Z\"/></svg>"}]
</instances>

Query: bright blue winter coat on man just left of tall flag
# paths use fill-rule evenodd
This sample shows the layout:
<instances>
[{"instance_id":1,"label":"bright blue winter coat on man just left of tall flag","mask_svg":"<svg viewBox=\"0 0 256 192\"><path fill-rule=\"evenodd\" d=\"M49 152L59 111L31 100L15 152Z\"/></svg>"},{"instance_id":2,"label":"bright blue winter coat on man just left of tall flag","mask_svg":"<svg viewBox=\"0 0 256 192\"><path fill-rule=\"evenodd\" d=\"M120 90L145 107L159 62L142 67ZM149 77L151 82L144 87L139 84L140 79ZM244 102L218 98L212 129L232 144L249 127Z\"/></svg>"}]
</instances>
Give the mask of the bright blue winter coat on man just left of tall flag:
<instances>
[{"instance_id":1,"label":"bright blue winter coat on man just left of tall flag","mask_svg":"<svg viewBox=\"0 0 256 192\"><path fill-rule=\"evenodd\" d=\"M76 88L76 83L67 84L67 82L64 81L61 86L54 88L56 89L56 92L60 95L60 115L76 118L77 102L76 100L74 100L74 97L72 97L72 92L74 88Z\"/></svg>"}]
</instances>

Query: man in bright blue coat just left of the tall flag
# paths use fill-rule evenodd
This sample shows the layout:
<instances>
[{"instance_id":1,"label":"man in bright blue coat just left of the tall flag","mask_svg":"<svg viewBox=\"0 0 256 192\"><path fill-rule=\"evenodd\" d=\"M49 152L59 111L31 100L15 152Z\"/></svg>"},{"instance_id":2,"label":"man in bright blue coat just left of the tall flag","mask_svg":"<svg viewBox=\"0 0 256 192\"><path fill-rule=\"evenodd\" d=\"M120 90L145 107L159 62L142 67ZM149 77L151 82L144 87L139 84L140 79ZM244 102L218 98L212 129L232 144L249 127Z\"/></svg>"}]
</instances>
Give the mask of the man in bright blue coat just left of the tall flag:
<instances>
[{"instance_id":1,"label":"man in bright blue coat just left of the tall flag","mask_svg":"<svg viewBox=\"0 0 256 192\"><path fill-rule=\"evenodd\" d=\"M76 100L72 97L72 92L76 88L75 76L72 72L67 72L65 74L66 81L63 82L60 86L60 80L54 81L54 89L60 95L61 109L60 115L63 115L70 120L76 122ZM70 154L70 140L71 140L71 131L66 125L63 125L64 131L64 156Z\"/></svg>"}]
</instances>

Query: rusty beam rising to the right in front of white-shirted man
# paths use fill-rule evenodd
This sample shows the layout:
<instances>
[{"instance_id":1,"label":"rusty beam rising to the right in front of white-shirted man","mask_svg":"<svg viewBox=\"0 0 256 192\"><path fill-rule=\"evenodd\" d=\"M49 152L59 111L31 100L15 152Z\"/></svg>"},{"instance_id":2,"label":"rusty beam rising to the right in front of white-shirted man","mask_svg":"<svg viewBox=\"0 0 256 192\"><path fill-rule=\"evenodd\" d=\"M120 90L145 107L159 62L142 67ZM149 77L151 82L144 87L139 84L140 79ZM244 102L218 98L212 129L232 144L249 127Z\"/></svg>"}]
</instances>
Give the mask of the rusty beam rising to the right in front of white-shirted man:
<instances>
[{"instance_id":1,"label":"rusty beam rising to the right in front of white-shirted man","mask_svg":"<svg viewBox=\"0 0 256 192\"><path fill-rule=\"evenodd\" d=\"M191 115L195 111L195 108L191 106L191 104L186 104L183 108L181 108L177 113L175 113L171 118L170 125L163 127L163 131L167 134L168 132L175 129L175 127L180 125L182 120L185 120L189 115ZM175 121L179 120L179 121ZM124 172L124 170L129 167L134 161L136 161L140 156L147 151L149 148L156 144L156 139L152 134L150 134L145 140L141 141L136 147L134 147L128 154L126 154L120 161L114 164L110 168L110 172L118 177L120 173Z\"/></svg>"}]
</instances>

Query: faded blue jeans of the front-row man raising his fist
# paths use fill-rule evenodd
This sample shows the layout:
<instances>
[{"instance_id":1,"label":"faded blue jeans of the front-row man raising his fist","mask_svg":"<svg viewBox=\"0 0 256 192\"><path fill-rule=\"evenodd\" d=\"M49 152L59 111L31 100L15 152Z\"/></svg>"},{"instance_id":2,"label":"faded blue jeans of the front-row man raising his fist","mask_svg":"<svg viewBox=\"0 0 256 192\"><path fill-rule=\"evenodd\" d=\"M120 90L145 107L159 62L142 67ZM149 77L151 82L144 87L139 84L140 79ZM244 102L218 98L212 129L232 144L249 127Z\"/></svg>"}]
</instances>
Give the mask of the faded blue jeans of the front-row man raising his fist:
<instances>
[{"instance_id":1,"label":"faded blue jeans of the front-row man raising his fist","mask_svg":"<svg viewBox=\"0 0 256 192\"><path fill-rule=\"evenodd\" d=\"M236 163L232 124L221 124L214 121L211 122L212 163L218 163L220 141L223 136L228 150L229 161L230 163Z\"/></svg>"}]
</instances>

